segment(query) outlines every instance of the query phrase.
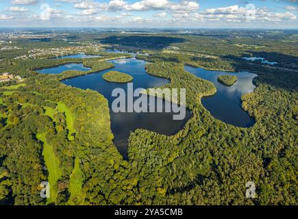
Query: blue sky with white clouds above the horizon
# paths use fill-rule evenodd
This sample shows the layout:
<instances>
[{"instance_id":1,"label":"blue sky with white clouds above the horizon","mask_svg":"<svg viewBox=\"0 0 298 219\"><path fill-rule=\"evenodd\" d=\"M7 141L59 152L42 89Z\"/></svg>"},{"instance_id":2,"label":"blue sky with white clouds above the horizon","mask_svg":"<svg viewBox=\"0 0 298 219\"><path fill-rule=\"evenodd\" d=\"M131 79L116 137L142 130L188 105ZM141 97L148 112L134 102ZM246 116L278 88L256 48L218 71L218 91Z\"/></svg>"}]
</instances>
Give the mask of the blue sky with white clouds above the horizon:
<instances>
[{"instance_id":1,"label":"blue sky with white clouds above the horizon","mask_svg":"<svg viewBox=\"0 0 298 219\"><path fill-rule=\"evenodd\" d=\"M298 0L0 0L0 27L298 29Z\"/></svg>"}]
</instances>

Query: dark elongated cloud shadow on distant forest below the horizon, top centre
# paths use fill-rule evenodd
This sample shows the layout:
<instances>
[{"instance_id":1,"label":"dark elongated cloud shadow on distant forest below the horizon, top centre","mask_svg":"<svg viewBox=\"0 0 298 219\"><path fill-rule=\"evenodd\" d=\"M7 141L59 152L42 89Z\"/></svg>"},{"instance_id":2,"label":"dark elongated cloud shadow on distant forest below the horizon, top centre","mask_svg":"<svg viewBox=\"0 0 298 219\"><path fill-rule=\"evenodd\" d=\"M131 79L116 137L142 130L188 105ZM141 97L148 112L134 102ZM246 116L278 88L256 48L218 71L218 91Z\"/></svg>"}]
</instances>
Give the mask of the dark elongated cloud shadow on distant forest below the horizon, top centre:
<instances>
[{"instance_id":1,"label":"dark elongated cloud shadow on distant forest below the horizon, top centre","mask_svg":"<svg viewBox=\"0 0 298 219\"><path fill-rule=\"evenodd\" d=\"M186 42L184 38L166 36L109 36L99 40L103 44L121 44L148 49L162 49L172 43Z\"/></svg>"}]
</instances>

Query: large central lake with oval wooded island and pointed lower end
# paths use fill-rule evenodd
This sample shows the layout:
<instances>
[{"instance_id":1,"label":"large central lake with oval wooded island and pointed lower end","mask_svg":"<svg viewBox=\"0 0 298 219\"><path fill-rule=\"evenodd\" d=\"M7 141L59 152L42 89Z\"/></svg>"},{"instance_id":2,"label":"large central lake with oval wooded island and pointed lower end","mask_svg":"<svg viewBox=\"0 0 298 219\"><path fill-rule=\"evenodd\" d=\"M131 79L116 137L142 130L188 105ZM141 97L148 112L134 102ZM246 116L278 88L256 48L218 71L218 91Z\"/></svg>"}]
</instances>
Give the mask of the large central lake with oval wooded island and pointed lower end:
<instances>
[{"instance_id":1,"label":"large central lake with oval wooded island and pointed lower end","mask_svg":"<svg viewBox=\"0 0 298 219\"><path fill-rule=\"evenodd\" d=\"M148 75L145 70L146 62L143 60L136 60L135 58L111 60L115 66L114 68L103 70L99 73L92 73L89 75L83 75L79 77L73 77L62 81L66 85L73 86L82 89L97 90L108 99L109 107L111 109L112 101L115 97L112 97L112 90L115 88L123 88L127 92L127 83L111 83L103 80L101 75L107 73L110 70L118 70L122 73L127 73L134 77L133 85L136 88L154 88L163 86L165 83L169 83L169 80L162 79L160 77L153 77ZM134 99L135 101L136 99ZM167 101L162 101L162 106ZM149 104L147 105L149 108ZM114 134L114 144L117 149L127 159L127 144L129 138L129 132L136 129L147 129L156 133L171 136L181 129L183 129L187 120L191 118L191 112L186 110L186 118L184 120L173 120L173 112L162 113L114 113L110 110L111 129Z\"/></svg>"}]
</instances>

